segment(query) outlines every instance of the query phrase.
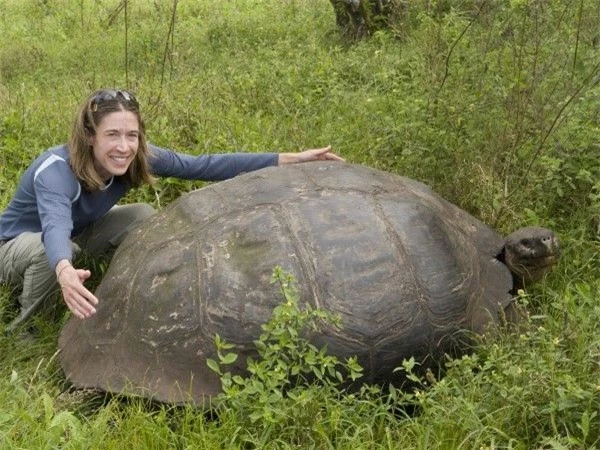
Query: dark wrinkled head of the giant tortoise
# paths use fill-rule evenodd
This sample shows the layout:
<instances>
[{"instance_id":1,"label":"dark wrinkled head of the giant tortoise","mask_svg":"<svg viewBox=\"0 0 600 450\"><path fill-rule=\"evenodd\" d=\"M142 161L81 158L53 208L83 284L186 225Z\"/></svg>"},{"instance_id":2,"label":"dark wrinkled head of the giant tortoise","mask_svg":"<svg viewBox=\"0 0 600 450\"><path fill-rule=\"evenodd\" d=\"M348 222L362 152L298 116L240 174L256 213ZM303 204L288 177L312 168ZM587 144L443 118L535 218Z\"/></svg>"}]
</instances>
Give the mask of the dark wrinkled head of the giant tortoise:
<instances>
[{"instance_id":1,"label":"dark wrinkled head of the giant tortoise","mask_svg":"<svg viewBox=\"0 0 600 450\"><path fill-rule=\"evenodd\" d=\"M520 228L504 243L504 263L513 274L515 289L544 278L559 256L558 239L546 228Z\"/></svg>"}]
</instances>

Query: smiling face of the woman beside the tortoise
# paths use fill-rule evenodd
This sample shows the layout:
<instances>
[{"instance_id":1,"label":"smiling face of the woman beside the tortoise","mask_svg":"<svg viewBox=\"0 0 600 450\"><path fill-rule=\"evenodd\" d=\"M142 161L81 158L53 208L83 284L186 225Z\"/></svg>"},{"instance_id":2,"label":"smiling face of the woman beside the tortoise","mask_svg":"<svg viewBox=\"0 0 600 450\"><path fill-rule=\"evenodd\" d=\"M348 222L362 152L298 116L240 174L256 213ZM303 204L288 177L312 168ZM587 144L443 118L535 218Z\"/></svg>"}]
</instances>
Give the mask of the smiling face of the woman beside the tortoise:
<instances>
[{"instance_id":1,"label":"smiling face of the woman beside the tortoise","mask_svg":"<svg viewBox=\"0 0 600 450\"><path fill-rule=\"evenodd\" d=\"M135 158L140 139L140 124L131 111L107 114L90 138L94 168L104 180L123 175Z\"/></svg>"}]
</instances>

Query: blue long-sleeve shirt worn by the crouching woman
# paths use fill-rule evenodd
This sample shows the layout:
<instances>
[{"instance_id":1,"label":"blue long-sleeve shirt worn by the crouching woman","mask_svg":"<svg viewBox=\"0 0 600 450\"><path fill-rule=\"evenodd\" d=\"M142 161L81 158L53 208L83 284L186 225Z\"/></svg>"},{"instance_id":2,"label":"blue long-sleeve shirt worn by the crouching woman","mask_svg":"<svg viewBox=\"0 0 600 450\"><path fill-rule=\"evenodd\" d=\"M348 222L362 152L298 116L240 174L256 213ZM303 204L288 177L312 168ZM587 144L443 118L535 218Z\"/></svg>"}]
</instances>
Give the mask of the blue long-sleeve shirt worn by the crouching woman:
<instances>
[{"instance_id":1,"label":"blue long-sleeve shirt worn by the crouching woman","mask_svg":"<svg viewBox=\"0 0 600 450\"><path fill-rule=\"evenodd\" d=\"M276 153L192 156L150 145L150 169L157 177L220 181L277 164ZM23 173L0 216L0 240L41 232L50 267L72 259L71 238L108 212L131 188L122 176L103 190L88 192L69 165L66 145L42 153Z\"/></svg>"}]
</instances>

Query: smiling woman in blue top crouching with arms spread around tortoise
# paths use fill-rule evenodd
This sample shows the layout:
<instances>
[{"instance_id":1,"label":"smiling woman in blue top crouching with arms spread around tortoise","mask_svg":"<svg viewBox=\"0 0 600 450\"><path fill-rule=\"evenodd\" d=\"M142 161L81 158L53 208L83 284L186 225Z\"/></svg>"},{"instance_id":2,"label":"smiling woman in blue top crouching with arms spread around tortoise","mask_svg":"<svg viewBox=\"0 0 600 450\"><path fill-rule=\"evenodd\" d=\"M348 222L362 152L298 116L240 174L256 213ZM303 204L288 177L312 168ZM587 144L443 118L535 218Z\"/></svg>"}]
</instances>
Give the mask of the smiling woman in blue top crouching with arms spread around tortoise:
<instances>
[{"instance_id":1,"label":"smiling woman in blue top crouching with arms spread around tortoise","mask_svg":"<svg viewBox=\"0 0 600 450\"><path fill-rule=\"evenodd\" d=\"M128 91L103 89L79 107L67 145L53 147L25 171L0 216L0 282L22 288L14 329L55 291L80 319L98 299L85 286L91 272L73 266L86 250L110 253L154 209L115 206L129 189L153 177L218 181L267 166L342 158L331 147L299 153L191 156L149 145L138 101Z\"/></svg>"}]
</instances>

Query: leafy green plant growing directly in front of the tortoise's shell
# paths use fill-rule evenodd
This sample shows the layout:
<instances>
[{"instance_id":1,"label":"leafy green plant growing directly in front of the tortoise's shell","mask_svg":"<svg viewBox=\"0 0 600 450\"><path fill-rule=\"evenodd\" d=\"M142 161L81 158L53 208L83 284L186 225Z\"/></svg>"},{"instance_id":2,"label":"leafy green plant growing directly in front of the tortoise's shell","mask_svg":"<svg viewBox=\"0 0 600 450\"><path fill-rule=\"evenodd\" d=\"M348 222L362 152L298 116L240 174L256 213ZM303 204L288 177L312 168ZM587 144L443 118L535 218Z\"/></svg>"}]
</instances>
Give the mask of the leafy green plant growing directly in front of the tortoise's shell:
<instances>
[{"instance_id":1,"label":"leafy green plant growing directly in front of the tortoise's shell","mask_svg":"<svg viewBox=\"0 0 600 450\"><path fill-rule=\"evenodd\" d=\"M226 409L247 417L251 423L288 426L290 420L312 420L314 408L323 397L337 395L340 386L361 376L356 358L344 363L317 348L308 336L318 331L320 324L339 326L339 318L310 305L300 306L296 280L281 267L273 270L272 283L278 283L283 303L274 310L271 319L262 325L255 341L259 358L249 359L248 376L232 375L224 367L237 355L233 346L218 335L215 338L218 361L209 359L209 367L221 376L223 393L217 401Z\"/></svg>"}]
</instances>

